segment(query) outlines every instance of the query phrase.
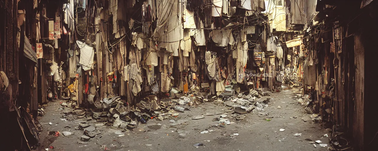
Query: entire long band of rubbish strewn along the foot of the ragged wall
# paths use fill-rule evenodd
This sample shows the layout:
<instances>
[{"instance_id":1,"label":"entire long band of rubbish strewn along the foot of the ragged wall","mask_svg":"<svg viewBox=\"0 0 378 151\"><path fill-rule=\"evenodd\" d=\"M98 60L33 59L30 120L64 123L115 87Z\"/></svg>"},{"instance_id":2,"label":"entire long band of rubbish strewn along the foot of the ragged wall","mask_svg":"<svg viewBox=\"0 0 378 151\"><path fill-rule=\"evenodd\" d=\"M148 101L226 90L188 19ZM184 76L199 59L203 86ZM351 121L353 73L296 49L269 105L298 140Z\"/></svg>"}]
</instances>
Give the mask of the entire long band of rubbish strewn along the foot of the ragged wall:
<instances>
[{"instance_id":1,"label":"entire long band of rubbish strewn along the foot of the ragged wall","mask_svg":"<svg viewBox=\"0 0 378 151\"><path fill-rule=\"evenodd\" d=\"M156 96L144 97L135 105L130 106L121 97L105 98L103 100L88 101L91 108L83 109L77 106L72 100L60 102L59 109L65 114L60 120L73 121L76 119L84 119L87 122L80 122L75 129L83 130L80 142L87 142L95 137L100 137L102 132L96 129L96 126L112 126L117 134L124 134L128 130L132 130L141 124L146 124L148 120L170 120L179 116L180 113L189 110L203 102L222 102L230 111L233 111L232 117L236 120L243 120L245 115L253 110L264 111L268 105L270 98L269 91L263 89L250 89L249 91L235 92L232 86L226 86L226 90L219 96L209 97L206 92L189 91L186 94L179 93L173 88L170 91L170 98L160 99ZM90 99L90 100L93 100ZM43 114L41 109L41 114ZM218 121L216 126L226 126L231 124L228 115L222 114L214 120ZM204 117L192 117L192 120L203 119ZM92 122L98 122L92 125ZM170 126L176 126L181 123L189 122L188 120L170 120ZM63 132L63 135L71 135L70 132Z\"/></svg>"}]
</instances>

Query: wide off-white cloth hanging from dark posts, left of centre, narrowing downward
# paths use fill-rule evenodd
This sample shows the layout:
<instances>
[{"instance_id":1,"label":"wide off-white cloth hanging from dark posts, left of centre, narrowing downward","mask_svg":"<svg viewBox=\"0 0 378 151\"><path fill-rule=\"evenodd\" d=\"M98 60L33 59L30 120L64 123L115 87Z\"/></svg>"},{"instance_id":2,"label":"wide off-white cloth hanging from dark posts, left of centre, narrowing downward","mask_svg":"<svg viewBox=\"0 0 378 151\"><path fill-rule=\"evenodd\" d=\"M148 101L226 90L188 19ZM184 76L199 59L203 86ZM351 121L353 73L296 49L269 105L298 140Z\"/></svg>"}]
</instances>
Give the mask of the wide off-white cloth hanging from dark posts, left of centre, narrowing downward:
<instances>
[{"instance_id":1,"label":"wide off-white cloth hanging from dark posts, left of centre, narrowing downward","mask_svg":"<svg viewBox=\"0 0 378 151\"><path fill-rule=\"evenodd\" d=\"M95 57L95 50L93 47L88 46L85 42L79 40L76 41L77 46L80 49L79 64L82 65L84 71L88 71L93 66L93 58Z\"/></svg>"}]
</instances>

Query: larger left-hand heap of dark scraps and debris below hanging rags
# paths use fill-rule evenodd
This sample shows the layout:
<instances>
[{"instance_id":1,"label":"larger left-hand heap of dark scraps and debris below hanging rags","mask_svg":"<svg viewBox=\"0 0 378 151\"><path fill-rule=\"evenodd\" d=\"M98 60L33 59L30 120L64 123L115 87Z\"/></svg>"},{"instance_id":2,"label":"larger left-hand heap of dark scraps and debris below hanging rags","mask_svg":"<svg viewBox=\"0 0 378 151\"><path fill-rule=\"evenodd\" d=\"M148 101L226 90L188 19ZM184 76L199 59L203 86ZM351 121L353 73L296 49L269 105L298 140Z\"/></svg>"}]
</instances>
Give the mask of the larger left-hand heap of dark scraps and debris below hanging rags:
<instances>
[{"instance_id":1,"label":"larger left-hand heap of dark scraps and debris below hanging rags","mask_svg":"<svg viewBox=\"0 0 378 151\"><path fill-rule=\"evenodd\" d=\"M157 101L156 96L150 96L144 97L133 106L130 106L121 97L112 97L93 102L93 107L90 109L78 108L76 102L71 102L70 100L61 102L59 109L63 110L65 116L62 116L62 118L65 118L65 120L93 120L93 122L102 122L105 126L113 126L115 129L119 128L122 131L127 131L141 124L146 124L150 119L162 121L168 119L169 116L177 117L180 112L184 112L189 107L203 102L203 98L198 96L195 91L187 94L178 94L178 92L176 89L171 91L175 99ZM177 125L178 123L180 121L172 125ZM88 141L101 133L88 123L79 123L79 125L78 129L84 130L84 135L81 137L82 141Z\"/></svg>"}]
</instances>

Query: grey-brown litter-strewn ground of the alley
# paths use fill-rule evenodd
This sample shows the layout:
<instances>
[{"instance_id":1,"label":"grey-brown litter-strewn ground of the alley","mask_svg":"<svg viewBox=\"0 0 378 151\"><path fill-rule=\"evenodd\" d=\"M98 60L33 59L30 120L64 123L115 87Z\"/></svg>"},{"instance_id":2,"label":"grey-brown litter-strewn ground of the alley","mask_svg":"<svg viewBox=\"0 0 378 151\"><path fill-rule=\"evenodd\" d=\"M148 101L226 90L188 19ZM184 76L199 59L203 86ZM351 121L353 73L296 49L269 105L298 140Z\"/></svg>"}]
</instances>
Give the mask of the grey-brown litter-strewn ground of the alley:
<instances>
[{"instance_id":1,"label":"grey-brown litter-strewn ground of the alley","mask_svg":"<svg viewBox=\"0 0 378 151\"><path fill-rule=\"evenodd\" d=\"M61 121L64 116L58 102L50 102L46 107L46 114L40 118L43 131L40 134L42 146L39 150L45 150L48 146L54 146L49 151L325 151L329 147L329 137L324 134L330 133L322 128L319 123L312 123L311 120L304 122L302 117L310 117L304 108L294 98L296 93L279 92L272 93L268 107L264 111L256 111L246 114L244 120L235 120L232 112L227 112L222 102L206 102L191 111L180 113L178 117L170 116L163 121L153 119L147 124L139 125L137 128L123 134L115 134L112 126L103 126L101 122L90 122L91 125L98 125L96 129L101 134L91 139L90 142L80 142L83 130L76 130L79 122L87 122L85 119L73 121ZM280 108L278 108L280 106ZM206 113L214 116L204 116L204 119L192 120L192 116L201 116ZM228 114L231 124L225 127L214 126L218 122L212 121L215 117ZM267 113L267 114L263 114ZM268 122L265 120L270 118ZM189 120L177 126L170 126L170 119ZM160 126L154 125L160 124ZM101 126L102 125L102 126ZM154 125L154 126L151 126ZM150 128L149 128L150 127ZM153 129L151 129L153 128ZM160 129L158 129L160 128ZM154 130L156 129L156 130ZM285 129L280 131L280 129ZM49 131L59 131L60 136L48 135ZM62 132L74 133L70 136L63 136ZM205 133L203 131L208 131ZM203 132L204 134L201 134ZM183 136L184 138L181 138ZM301 136L293 136L301 133ZM123 135L123 136L122 136ZM306 140L307 139L307 140ZM327 147L315 148L310 140L320 140L327 144ZM52 143L51 143L52 142ZM50 144L51 143L51 144ZM195 143L203 143L198 148ZM318 145L319 146L319 145Z\"/></svg>"}]
</instances>

